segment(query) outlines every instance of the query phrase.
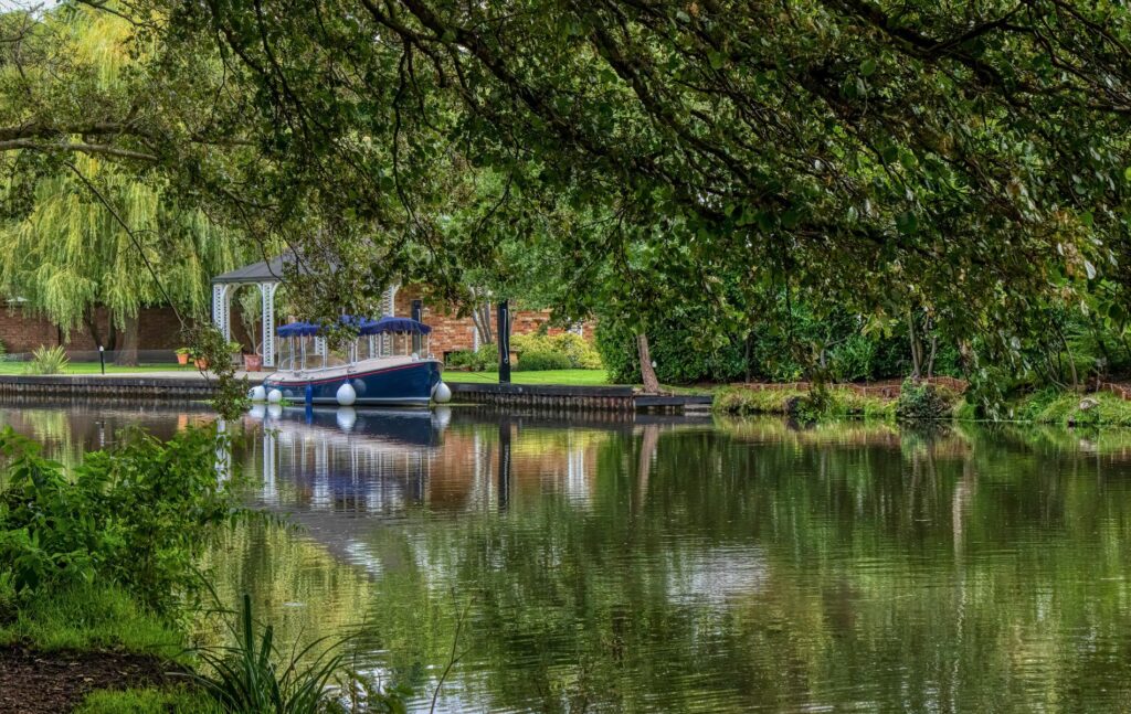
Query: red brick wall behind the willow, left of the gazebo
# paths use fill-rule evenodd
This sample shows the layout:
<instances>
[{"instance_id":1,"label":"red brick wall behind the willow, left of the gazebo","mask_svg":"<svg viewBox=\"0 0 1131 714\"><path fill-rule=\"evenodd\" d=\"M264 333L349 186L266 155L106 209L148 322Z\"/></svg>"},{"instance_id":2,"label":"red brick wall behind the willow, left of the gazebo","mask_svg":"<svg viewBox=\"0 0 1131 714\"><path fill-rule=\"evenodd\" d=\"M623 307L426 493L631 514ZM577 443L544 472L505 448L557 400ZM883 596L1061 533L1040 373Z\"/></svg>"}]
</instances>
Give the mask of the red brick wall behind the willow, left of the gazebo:
<instances>
[{"instance_id":1,"label":"red brick wall behind the willow, left of the gazebo","mask_svg":"<svg viewBox=\"0 0 1131 714\"><path fill-rule=\"evenodd\" d=\"M98 310L98 330L102 339L110 336L110 321L105 310ZM181 324L167 307L147 307L139 315L138 341L140 349L175 349L181 345ZM94 338L86 325L77 326L68 336L42 315L23 307L0 308L0 342L8 352L29 352L37 347L63 345L68 350L96 350ZM109 345L106 346L110 347Z\"/></svg>"}]
</instances>

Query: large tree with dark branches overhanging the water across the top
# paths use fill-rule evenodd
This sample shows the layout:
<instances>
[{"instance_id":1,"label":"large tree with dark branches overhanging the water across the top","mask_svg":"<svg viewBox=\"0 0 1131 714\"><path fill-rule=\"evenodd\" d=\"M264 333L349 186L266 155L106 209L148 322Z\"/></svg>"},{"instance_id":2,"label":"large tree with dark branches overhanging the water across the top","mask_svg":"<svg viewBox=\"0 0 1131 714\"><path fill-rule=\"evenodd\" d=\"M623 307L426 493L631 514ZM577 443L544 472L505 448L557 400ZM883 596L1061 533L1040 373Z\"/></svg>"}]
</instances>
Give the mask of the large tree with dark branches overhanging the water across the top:
<instances>
[{"instance_id":1,"label":"large tree with dark branches overhanging the water across the top","mask_svg":"<svg viewBox=\"0 0 1131 714\"><path fill-rule=\"evenodd\" d=\"M547 279L571 288L561 306L607 303L618 267L644 267L659 279L636 280L621 304L645 331L679 296L718 301L714 328L741 325L757 301L714 289L720 269L751 293L944 315L952 336L1001 350L1022 315L1098 280L1103 308L1126 312L1124 3L111 9L159 38L163 76L181 85L156 94L169 141L154 128L98 136L175 157L233 216L335 265L310 295L371 294L390 271L451 284L491 245L529 238L532 214L572 211L590 220L539 243L558 259ZM223 67L222 85L193 71L201 61ZM222 117L198 122L207 130L162 119L206 96ZM252 155L210 153L234 137ZM446 223L460 211L483 220Z\"/></svg>"}]
</instances>

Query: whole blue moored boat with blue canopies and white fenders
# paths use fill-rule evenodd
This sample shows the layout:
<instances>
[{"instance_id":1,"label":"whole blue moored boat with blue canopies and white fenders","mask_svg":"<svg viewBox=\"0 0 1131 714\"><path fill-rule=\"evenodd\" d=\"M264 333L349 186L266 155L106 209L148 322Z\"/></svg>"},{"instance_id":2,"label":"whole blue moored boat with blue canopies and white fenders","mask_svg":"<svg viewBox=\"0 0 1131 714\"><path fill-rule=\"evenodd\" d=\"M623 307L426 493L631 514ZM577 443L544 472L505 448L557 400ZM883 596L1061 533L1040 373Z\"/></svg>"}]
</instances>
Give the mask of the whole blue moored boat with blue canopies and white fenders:
<instances>
[{"instance_id":1,"label":"whole blue moored boat with blue canopies and white fenders","mask_svg":"<svg viewBox=\"0 0 1131 714\"><path fill-rule=\"evenodd\" d=\"M310 362L320 363L314 367L308 365L308 345L326 332L323 326L308 322L280 326L278 336L287 340L288 354L278 372L265 378L262 386L252 389L252 400L347 407L428 406L433 400L450 399L451 392L441 380L443 363L420 343L431 332L426 324L407 317L343 317L342 322L352 328L356 338L342 357L330 355L326 340L316 340L317 354ZM404 347L399 355L398 338ZM413 351L412 341L428 356Z\"/></svg>"}]
</instances>

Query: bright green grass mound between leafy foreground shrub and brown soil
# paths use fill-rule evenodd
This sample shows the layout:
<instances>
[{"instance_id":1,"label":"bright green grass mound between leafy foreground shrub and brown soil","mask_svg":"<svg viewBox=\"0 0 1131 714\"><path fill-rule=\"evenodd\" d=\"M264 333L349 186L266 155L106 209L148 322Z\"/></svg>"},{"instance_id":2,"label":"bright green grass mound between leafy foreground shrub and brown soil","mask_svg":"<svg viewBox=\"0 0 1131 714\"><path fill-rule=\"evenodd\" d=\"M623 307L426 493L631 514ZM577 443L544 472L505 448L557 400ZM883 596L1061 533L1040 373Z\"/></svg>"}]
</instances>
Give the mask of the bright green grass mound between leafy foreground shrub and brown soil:
<instances>
[{"instance_id":1,"label":"bright green grass mound between leafy foreground shrub and brown soil","mask_svg":"<svg viewBox=\"0 0 1131 714\"><path fill-rule=\"evenodd\" d=\"M0 622L0 644L37 650L124 650L173 655L182 637L116 587L83 585L19 602Z\"/></svg>"}]
</instances>

